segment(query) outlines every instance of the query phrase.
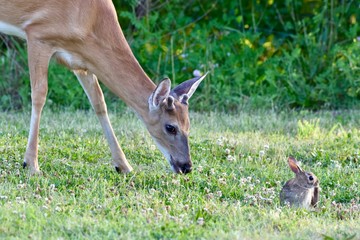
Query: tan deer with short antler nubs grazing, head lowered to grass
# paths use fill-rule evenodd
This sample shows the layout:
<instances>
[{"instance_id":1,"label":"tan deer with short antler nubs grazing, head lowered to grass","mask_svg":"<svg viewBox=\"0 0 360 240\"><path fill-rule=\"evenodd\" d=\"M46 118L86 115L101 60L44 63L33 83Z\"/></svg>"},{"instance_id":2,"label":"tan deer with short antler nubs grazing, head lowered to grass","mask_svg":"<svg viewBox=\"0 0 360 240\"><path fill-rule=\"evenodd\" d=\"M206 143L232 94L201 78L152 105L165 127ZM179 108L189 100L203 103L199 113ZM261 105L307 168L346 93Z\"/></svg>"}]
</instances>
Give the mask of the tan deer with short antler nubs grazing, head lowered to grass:
<instances>
[{"instance_id":1,"label":"tan deer with short antler nubs grazing, head lowered to grass","mask_svg":"<svg viewBox=\"0 0 360 240\"><path fill-rule=\"evenodd\" d=\"M52 58L71 70L84 89L117 172L133 168L114 134L99 80L135 111L173 172L192 171L188 101L206 74L173 89L169 78L156 85L126 41L111 0L0 0L0 32L27 43L31 119L23 167L31 174L41 173L39 126Z\"/></svg>"}]
</instances>

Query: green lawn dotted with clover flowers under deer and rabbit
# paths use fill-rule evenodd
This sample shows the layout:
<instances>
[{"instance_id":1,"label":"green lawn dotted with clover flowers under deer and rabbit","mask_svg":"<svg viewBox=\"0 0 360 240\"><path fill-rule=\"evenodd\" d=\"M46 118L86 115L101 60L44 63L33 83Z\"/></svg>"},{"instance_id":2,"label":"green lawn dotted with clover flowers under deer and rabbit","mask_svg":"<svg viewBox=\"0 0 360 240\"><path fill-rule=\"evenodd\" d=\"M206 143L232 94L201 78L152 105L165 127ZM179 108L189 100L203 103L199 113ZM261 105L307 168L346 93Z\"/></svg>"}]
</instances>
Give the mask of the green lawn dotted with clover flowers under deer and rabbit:
<instances>
[{"instance_id":1,"label":"green lawn dotted with clover flowers under deer and rabbit","mask_svg":"<svg viewBox=\"0 0 360 240\"><path fill-rule=\"evenodd\" d=\"M194 171L175 175L131 112L110 116L119 175L92 112L44 112L42 176L21 168L29 113L0 115L0 238L358 239L360 111L192 113ZM320 179L316 211L280 206L293 155Z\"/></svg>"}]
</instances>

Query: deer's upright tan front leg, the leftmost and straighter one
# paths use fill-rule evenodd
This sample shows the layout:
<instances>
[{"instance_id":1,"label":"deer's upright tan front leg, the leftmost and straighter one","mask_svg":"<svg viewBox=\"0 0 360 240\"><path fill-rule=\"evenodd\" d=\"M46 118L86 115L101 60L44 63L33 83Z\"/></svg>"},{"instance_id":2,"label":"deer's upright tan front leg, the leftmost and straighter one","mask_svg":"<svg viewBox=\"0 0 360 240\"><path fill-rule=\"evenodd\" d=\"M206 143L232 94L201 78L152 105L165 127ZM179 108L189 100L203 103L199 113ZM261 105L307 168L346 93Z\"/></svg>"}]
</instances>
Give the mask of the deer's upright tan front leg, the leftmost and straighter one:
<instances>
[{"instance_id":1,"label":"deer's upright tan front leg, the leftmost and straighter one","mask_svg":"<svg viewBox=\"0 0 360 240\"><path fill-rule=\"evenodd\" d=\"M28 143L24 157L24 168L31 174L40 173L38 164L38 136L41 112L45 104L48 82L48 66L53 51L50 46L28 36L28 62L31 82L31 120Z\"/></svg>"}]
</instances>

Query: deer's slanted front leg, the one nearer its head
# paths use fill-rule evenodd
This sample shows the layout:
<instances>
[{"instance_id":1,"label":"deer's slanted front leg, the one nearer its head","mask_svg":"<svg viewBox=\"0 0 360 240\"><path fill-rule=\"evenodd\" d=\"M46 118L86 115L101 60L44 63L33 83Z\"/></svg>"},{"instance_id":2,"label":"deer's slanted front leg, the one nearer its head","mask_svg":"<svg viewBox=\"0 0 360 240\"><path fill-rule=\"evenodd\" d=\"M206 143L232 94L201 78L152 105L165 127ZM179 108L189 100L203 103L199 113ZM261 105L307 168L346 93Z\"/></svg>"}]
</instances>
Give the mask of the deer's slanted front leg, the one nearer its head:
<instances>
[{"instance_id":1,"label":"deer's slanted front leg, the one nearer its head","mask_svg":"<svg viewBox=\"0 0 360 240\"><path fill-rule=\"evenodd\" d=\"M109 120L109 116L107 114L104 95L96 76L90 72L86 72L83 70L76 70L74 71L74 73L77 76L82 87L84 88L86 95L88 96L90 103L94 108L97 117L100 120L100 124L103 128L105 137L110 146L112 160L116 171L123 173L132 171L132 167L128 163L125 154L122 151L114 134L113 128Z\"/></svg>"}]
</instances>

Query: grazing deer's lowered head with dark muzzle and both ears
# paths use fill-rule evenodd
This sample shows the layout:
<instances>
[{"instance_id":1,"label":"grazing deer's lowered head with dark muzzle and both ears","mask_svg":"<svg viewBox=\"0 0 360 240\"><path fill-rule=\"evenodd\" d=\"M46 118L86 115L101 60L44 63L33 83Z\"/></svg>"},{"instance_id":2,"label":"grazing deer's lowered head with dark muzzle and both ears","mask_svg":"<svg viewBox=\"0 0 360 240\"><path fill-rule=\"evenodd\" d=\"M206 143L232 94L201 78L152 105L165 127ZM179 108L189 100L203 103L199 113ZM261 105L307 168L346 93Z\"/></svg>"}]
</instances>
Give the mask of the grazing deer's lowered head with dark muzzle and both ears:
<instances>
[{"instance_id":1,"label":"grazing deer's lowered head with dark muzzle and both ears","mask_svg":"<svg viewBox=\"0 0 360 240\"><path fill-rule=\"evenodd\" d=\"M172 90L171 82L166 78L149 97L150 121L145 124L176 173L192 170L188 100L205 76L187 80Z\"/></svg>"}]
</instances>

